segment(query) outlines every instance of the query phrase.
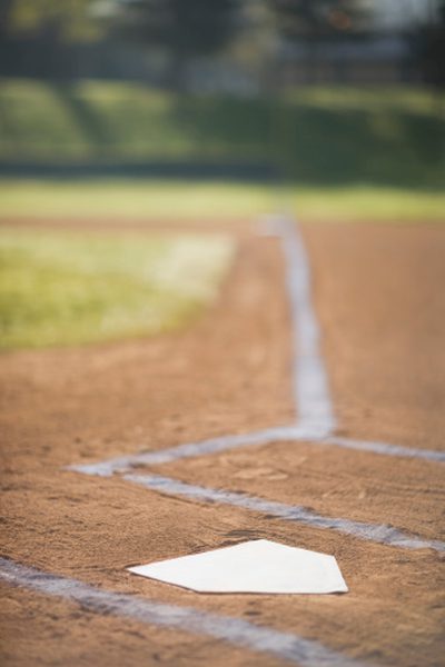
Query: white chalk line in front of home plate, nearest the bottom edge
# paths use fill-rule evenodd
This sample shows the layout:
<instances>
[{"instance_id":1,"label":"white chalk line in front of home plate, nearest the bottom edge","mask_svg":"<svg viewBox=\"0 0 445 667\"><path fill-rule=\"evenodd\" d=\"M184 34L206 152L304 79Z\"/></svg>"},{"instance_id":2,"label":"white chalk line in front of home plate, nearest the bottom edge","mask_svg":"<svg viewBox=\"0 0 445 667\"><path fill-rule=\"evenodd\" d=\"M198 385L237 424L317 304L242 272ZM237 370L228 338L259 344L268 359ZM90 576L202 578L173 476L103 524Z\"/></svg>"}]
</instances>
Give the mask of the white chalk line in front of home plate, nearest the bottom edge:
<instances>
[{"instance_id":1,"label":"white chalk line in front of home plate, nearest the bottom edge","mask_svg":"<svg viewBox=\"0 0 445 667\"><path fill-rule=\"evenodd\" d=\"M44 573L6 558L0 558L0 579L12 586L80 604L95 614L204 635L236 647L267 653L300 667L364 667L364 663L298 635L258 626L231 616L96 588L78 579Z\"/></svg>"}]
</instances>

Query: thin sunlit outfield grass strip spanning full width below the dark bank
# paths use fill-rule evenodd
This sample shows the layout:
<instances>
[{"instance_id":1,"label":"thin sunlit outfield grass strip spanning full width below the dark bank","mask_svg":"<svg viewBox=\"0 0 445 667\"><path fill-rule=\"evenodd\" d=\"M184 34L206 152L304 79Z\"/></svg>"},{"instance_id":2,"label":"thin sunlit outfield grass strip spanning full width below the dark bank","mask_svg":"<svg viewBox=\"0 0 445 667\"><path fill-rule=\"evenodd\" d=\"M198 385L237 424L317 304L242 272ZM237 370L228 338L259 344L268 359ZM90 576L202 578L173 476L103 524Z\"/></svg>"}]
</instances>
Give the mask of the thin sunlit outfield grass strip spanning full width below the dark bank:
<instances>
[{"instance_id":1,"label":"thin sunlit outfield grass strip spanning full width below the dark bank","mask_svg":"<svg viewBox=\"0 0 445 667\"><path fill-rule=\"evenodd\" d=\"M253 218L280 208L300 220L444 221L445 191L383 186L268 186L176 181L0 180L0 218Z\"/></svg>"}]
</instances>

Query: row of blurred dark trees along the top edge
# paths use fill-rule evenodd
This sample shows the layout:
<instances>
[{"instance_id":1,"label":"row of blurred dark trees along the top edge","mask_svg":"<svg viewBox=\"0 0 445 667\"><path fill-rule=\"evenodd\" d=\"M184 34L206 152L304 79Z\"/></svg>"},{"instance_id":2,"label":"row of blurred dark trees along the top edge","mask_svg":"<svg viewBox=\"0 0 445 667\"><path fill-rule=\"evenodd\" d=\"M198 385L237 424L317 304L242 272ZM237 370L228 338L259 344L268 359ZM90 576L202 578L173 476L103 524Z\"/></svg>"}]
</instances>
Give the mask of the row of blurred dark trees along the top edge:
<instances>
[{"instance_id":1,"label":"row of blurred dark trees along the top edge","mask_svg":"<svg viewBox=\"0 0 445 667\"><path fill-rule=\"evenodd\" d=\"M13 71L28 49L28 61L32 54L42 59L42 72L63 76L79 44L130 43L162 51L169 84L180 88L192 59L249 39L258 7L276 40L303 43L308 52L320 42L363 37L369 29L369 10L360 0L0 0L1 70ZM443 84L445 0L434 23L413 32L413 54L425 78Z\"/></svg>"}]
</instances>

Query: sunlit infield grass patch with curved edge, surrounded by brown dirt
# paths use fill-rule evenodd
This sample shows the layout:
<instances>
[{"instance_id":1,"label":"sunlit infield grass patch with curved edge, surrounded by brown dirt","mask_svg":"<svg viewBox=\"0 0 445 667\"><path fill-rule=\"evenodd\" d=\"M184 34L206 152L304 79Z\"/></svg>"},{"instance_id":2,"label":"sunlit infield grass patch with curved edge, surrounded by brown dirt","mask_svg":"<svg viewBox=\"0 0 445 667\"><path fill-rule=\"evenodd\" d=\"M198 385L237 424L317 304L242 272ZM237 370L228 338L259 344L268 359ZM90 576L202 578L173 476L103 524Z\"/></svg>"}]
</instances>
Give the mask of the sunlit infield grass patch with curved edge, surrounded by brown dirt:
<instances>
[{"instance_id":1,"label":"sunlit infield grass patch with curved edge, surrounded by brown dirt","mask_svg":"<svg viewBox=\"0 0 445 667\"><path fill-rule=\"evenodd\" d=\"M0 232L1 349L170 331L216 296L226 237Z\"/></svg>"}]
</instances>

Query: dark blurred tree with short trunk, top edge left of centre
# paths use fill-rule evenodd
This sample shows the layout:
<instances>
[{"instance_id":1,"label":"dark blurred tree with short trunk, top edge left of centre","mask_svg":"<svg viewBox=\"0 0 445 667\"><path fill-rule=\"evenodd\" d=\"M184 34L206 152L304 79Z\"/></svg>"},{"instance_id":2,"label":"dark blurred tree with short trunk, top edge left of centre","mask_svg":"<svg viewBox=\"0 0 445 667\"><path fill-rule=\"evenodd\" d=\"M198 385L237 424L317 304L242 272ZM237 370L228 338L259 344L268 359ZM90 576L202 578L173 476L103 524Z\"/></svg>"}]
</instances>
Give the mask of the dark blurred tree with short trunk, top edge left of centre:
<instances>
[{"instance_id":1,"label":"dark blurred tree with short trunk, top edge left of centre","mask_svg":"<svg viewBox=\"0 0 445 667\"><path fill-rule=\"evenodd\" d=\"M169 83L182 90L190 59L219 51L233 37L240 2L120 0L120 32L144 43L161 47L169 59Z\"/></svg>"}]
</instances>

